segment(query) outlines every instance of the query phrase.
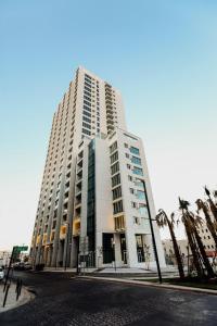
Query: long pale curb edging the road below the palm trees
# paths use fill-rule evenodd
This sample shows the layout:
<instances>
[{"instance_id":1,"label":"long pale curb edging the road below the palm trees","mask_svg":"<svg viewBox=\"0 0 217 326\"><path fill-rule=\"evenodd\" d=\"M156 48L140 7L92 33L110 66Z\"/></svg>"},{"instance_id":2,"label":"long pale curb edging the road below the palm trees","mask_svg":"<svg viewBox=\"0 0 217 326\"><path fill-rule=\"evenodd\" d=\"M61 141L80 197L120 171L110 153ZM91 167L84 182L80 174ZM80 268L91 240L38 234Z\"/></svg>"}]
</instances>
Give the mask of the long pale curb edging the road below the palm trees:
<instances>
[{"instance_id":1,"label":"long pale curb edging the road below the palm trees","mask_svg":"<svg viewBox=\"0 0 217 326\"><path fill-rule=\"evenodd\" d=\"M138 285L138 286L149 286L153 288L161 288L161 289L173 289L173 290L181 290L181 291L190 291L196 293L206 293L206 294L214 294L217 296L217 290L209 290L203 288L193 288L193 287L186 287L186 286L177 286L177 285L166 285L166 284L153 284L150 281L141 281L141 280L132 280L132 279L123 279L123 278L112 278L112 277L97 277L97 276L78 276L79 278L90 278L90 279L98 279L98 280L107 280L107 281L116 281L116 283L124 283L128 285Z\"/></svg>"}]
</instances>

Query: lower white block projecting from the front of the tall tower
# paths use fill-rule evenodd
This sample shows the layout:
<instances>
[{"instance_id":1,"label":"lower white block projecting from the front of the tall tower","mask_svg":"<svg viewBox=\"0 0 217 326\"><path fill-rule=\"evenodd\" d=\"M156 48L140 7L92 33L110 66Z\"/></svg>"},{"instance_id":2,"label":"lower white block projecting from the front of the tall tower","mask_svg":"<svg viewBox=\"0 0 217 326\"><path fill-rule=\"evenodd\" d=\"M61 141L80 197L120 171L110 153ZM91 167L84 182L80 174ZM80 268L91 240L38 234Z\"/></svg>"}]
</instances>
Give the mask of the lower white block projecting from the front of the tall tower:
<instances>
[{"instance_id":1,"label":"lower white block projecting from the front of the tall tower","mask_svg":"<svg viewBox=\"0 0 217 326\"><path fill-rule=\"evenodd\" d=\"M116 266L155 267L148 201L152 220L155 217L155 210L142 141L119 128L106 138L99 135L89 142L82 141L80 146L82 164L78 160L77 171L80 172L81 168L86 176L78 192L82 198L78 231L81 241L89 237L87 152L90 143L94 149L94 247L91 249L94 252L94 264L101 267L111 265L112 262L114 264L115 261ZM148 198L141 180L145 183ZM74 216L76 221L76 212ZM153 225L159 263L165 266L155 221ZM108 243L105 244L106 238ZM85 253L82 244L80 248L80 253Z\"/></svg>"}]
</instances>

